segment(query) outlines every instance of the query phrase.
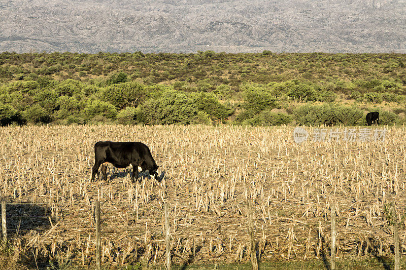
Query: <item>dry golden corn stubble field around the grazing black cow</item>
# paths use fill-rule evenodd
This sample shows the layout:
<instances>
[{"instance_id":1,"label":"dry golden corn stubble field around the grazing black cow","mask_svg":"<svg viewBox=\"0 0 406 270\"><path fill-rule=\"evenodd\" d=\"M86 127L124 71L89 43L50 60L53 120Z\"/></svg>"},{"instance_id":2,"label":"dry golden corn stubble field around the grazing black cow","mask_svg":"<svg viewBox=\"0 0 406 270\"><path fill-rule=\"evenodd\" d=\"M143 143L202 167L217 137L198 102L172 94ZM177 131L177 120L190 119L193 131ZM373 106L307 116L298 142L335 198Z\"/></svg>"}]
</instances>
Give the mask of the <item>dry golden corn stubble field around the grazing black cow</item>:
<instances>
[{"instance_id":1,"label":"dry golden corn stubble field around the grazing black cow","mask_svg":"<svg viewBox=\"0 0 406 270\"><path fill-rule=\"evenodd\" d=\"M293 127L1 128L1 197L13 203L8 236L26 265L45 266L58 256L94 265L98 199L102 263L162 265L165 202L175 264L247 262L249 198L260 261L328 259L334 202L338 258L392 257L384 206L394 202L403 253L405 127L389 127L384 142L296 144L292 134ZM110 182L90 182L100 140L146 143L163 180L143 173L131 184L132 169L109 165Z\"/></svg>"}]
</instances>

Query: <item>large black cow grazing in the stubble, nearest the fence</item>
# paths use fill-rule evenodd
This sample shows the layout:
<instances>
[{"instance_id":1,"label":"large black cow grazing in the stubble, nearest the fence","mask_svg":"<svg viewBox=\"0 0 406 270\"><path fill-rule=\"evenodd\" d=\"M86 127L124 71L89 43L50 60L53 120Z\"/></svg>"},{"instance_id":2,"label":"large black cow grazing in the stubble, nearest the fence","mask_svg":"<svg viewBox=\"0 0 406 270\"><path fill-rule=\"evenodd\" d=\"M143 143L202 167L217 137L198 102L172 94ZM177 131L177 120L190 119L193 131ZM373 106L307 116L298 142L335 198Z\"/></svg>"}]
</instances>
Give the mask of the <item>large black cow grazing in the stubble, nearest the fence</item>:
<instances>
[{"instance_id":1,"label":"large black cow grazing in the stubble, nearest the fence","mask_svg":"<svg viewBox=\"0 0 406 270\"><path fill-rule=\"evenodd\" d=\"M111 163L116 168L126 168L132 165L131 181L134 181L134 176L138 180L138 167L142 171L148 170L150 175L154 175L158 179L156 170L159 166L156 165L154 158L152 158L151 151L148 146L142 142L114 142L114 141L99 141L94 144L94 166L92 169L92 178L97 173L100 179L98 168L101 164L101 172L105 179L107 179L107 164Z\"/></svg>"}]
</instances>

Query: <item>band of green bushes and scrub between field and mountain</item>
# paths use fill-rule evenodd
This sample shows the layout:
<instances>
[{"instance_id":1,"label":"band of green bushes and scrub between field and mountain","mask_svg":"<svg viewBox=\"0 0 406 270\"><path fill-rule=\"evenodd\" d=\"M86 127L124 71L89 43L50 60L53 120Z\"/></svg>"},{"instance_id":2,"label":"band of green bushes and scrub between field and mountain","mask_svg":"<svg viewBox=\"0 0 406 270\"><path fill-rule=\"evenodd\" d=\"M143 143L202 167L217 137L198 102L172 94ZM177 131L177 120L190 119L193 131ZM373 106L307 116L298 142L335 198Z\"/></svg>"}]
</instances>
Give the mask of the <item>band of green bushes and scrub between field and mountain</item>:
<instances>
[{"instance_id":1,"label":"band of green bushes and scrub between field and mountain","mask_svg":"<svg viewBox=\"0 0 406 270\"><path fill-rule=\"evenodd\" d=\"M1 53L0 125L404 121L403 54Z\"/></svg>"}]
</instances>

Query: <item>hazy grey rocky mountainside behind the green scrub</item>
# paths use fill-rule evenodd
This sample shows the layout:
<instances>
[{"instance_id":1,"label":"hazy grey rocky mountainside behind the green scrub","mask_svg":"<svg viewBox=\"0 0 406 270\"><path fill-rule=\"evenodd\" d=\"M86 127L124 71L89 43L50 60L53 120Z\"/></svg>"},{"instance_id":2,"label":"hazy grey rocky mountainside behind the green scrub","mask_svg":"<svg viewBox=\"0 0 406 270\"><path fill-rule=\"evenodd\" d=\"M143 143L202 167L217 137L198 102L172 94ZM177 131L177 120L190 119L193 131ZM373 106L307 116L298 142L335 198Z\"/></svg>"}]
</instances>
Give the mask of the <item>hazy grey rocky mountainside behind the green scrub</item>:
<instances>
[{"instance_id":1,"label":"hazy grey rocky mountainside behind the green scrub","mask_svg":"<svg viewBox=\"0 0 406 270\"><path fill-rule=\"evenodd\" d=\"M400 52L404 0L0 3L0 51Z\"/></svg>"}]
</instances>

